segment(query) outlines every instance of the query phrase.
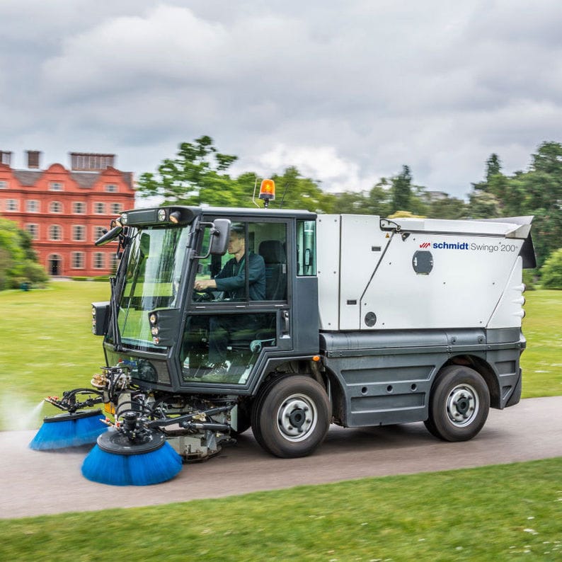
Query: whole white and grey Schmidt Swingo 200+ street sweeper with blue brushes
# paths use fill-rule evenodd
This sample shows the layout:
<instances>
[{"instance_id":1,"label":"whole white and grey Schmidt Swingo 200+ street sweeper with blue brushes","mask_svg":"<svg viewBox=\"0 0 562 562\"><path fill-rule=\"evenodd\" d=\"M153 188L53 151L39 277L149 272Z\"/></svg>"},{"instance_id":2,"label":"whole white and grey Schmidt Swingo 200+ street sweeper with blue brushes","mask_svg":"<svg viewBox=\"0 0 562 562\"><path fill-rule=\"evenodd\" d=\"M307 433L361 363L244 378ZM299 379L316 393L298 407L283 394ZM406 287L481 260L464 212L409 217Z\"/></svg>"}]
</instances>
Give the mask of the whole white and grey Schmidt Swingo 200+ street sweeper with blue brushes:
<instances>
[{"instance_id":1,"label":"whole white and grey Schmidt Swingo 200+ street sweeper with blue brushes","mask_svg":"<svg viewBox=\"0 0 562 562\"><path fill-rule=\"evenodd\" d=\"M250 427L277 457L311 454L331 423L469 440L520 401L531 222L123 212L96 242L120 257L93 303L105 366L46 398L63 412L30 446L96 442L86 478L149 484Z\"/></svg>"}]
</instances>

